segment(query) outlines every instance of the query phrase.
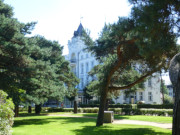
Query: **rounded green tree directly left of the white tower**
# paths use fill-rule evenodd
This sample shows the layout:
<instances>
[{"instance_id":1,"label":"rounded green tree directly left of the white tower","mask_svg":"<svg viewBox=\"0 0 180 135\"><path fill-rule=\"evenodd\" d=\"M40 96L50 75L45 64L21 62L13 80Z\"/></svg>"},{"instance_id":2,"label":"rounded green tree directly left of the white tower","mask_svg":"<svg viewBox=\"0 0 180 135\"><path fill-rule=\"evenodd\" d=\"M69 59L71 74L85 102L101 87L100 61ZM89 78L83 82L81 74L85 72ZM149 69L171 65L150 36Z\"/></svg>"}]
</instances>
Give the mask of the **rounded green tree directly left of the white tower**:
<instances>
[{"instance_id":1,"label":"rounded green tree directly left of the white tower","mask_svg":"<svg viewBox=\"0 0 180 135\"><path fill-rule=\"evenodd\" d=\"M78 79L71 72L69 62L62 56L62 47L55 41L46 40L44 37L31 38L35 41L31 53L34 66L34 75L25 85L27 98L37 105L43 104L48 99L62 101L65 96L76 91Z\"/></svg>"}]
</instances>

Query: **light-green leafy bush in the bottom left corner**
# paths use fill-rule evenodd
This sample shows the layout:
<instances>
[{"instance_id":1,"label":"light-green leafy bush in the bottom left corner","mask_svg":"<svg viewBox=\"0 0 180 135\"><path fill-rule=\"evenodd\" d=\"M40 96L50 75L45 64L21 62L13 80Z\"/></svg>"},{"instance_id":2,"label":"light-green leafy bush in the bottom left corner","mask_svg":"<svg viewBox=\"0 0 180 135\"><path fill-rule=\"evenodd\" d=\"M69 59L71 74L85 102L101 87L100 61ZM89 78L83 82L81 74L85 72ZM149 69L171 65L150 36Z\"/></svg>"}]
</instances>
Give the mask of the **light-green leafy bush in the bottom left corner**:
<instances>
[{"instance_id":1,"label":"light-green leafy bush in the bottom left corner","mask_svg":"<svg viewBox=\"0 0 180 135\"><path fill-rule=\"evenodd\" d=\"M14 104L7 94L0 90L0 135L11 135L14 122Z\"/></svg>"}]
</instances>

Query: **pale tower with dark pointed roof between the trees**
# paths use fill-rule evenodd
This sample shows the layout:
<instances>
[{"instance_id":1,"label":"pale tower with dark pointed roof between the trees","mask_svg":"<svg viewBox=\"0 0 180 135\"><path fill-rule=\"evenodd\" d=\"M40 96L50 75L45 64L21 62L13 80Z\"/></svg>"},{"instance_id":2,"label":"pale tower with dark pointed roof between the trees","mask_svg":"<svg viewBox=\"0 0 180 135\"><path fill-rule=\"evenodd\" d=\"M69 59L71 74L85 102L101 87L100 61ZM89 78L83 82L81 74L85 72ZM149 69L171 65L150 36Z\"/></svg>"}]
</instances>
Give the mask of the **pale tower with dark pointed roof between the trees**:
<instances>
[{"instance_id":1,"label":"pale tower with dark pointed roof between the trees","mask_svg":"<svg viewBox=\"0 0 180 135\"><path fill-rule=\"evenodd\" d=\"M98 64L95 57L84 51L86 47L84 41L82 40L84 28L82 24L79 24L77 31L74 31L74 35L70 41L68 41L69 54L67 59L70 61L70 67L72 72L80 79L78 88L78 103L85 104L88 100L83 96L83 89L92 80L89 77L88 72Z\"/></svg>"}]
</instances>

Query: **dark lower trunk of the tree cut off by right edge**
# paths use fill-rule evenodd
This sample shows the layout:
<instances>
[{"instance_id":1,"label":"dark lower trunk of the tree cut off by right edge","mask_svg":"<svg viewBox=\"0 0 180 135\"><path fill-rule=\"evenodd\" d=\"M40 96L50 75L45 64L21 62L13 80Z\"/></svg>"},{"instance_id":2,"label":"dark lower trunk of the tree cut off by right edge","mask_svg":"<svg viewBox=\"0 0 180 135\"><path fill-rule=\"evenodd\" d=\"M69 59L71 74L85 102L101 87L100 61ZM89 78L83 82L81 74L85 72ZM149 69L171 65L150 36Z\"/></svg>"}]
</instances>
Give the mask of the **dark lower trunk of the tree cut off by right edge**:
<instances>
[{"instance_id":1,"label":"dark lower trunk of the tree cut off by right edge","mask_svg":"<svg viewBox=\"0 0 180 135\"><path fill-rule=\"evenodd\" d=\"M180 135L180 81L175 86L172 135Z\"/></svg>"}]
</instances>

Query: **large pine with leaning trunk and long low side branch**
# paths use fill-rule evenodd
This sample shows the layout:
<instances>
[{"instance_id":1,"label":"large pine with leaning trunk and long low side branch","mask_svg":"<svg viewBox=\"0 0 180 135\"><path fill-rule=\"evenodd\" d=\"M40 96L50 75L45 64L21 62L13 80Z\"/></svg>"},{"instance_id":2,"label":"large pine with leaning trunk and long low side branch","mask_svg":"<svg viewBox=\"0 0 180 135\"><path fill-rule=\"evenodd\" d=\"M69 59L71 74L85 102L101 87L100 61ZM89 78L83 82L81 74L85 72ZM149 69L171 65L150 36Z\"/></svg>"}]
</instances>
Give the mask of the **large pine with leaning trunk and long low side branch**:
<instances>
[{"instance_id":1,"label":"large pine with leaning trunk and long low side branch","mask_svg":"<svg viewBox=\"0 0 180 135\"><path fill-rule=\"evenodd\" d=\"M130 3L133 8L129 18L105 25L95 42L85 35L88 50L103 62L96 84L101 95L97 126L103 125L110 91L136 87L153 73L166 70L177 52L178 32L173 30L179 24L172 16L179 15L179 6L176 7L179 1L130 0ZM131 78L128 81L127 75Z\"/></svg>"}]
</instances>

